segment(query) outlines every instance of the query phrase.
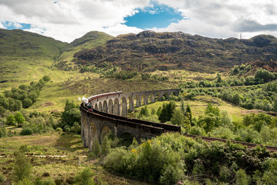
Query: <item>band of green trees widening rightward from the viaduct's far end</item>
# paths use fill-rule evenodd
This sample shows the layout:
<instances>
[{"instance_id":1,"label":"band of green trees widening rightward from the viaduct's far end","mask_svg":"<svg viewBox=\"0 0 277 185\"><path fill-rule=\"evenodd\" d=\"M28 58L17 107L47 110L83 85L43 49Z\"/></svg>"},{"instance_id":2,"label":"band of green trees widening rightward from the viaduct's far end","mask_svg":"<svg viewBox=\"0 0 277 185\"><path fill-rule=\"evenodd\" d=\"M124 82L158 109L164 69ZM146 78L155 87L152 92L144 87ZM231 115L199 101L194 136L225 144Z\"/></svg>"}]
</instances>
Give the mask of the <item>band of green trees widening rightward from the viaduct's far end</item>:
<instances>
[{"instance_id":1,"label":"band of green trees widening rightward from the viaduct's far end","mask_svg":"<svg viewBox=\"0 0 277 185\"><path fill-rule=\"evenodd\" d=\"M190 100L195 96L209 95L246 109L277 112L277 81L251 87L182 89L181 94Z\"/></svg>"}]
</instances>

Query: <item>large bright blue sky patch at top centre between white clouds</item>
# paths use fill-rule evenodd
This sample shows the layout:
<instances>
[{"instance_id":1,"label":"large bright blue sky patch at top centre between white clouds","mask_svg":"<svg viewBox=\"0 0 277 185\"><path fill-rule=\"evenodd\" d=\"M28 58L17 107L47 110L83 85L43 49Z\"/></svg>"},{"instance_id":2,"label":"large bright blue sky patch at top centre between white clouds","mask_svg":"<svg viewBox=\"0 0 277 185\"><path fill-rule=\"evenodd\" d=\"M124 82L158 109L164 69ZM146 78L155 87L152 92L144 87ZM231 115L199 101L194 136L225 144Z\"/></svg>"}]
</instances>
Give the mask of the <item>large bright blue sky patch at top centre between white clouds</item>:
<instances>
[{"instance_id":1,"label":"large bright blue sky patch at top centre between white clouds","mask_svg":"<svg viewBox=\"0 0 277 185\"><path fill-rule=\"evenodd\" d=\"M181 12L169 6L151 2L151 6L146 8L137 8L136 14L125 17L125 25L136 28L166 28L171 23L177 23L184 19Z\"/></svg>"}]
</instances>

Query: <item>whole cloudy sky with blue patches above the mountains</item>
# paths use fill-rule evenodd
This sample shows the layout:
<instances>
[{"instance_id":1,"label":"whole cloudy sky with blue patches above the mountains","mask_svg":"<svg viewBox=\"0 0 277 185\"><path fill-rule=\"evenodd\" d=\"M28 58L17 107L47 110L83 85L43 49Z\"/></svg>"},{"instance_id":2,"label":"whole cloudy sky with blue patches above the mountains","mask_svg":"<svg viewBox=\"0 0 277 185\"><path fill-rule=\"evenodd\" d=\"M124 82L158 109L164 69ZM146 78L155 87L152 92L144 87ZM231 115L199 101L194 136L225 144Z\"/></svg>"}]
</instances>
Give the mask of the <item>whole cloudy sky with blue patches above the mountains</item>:
<instances>
[{"instance_id":1,"label":"whole cloudy sky with blue patches above the mountains","mask_svg":"<svg viewBox=\"0 0 277 185\"><path fill-rule=\"evenodd\" d=\"M213 38L277 37L275 0L0 0L0 28L72 42L109 35L182 31Z\"/></svg>"}]
</instances>

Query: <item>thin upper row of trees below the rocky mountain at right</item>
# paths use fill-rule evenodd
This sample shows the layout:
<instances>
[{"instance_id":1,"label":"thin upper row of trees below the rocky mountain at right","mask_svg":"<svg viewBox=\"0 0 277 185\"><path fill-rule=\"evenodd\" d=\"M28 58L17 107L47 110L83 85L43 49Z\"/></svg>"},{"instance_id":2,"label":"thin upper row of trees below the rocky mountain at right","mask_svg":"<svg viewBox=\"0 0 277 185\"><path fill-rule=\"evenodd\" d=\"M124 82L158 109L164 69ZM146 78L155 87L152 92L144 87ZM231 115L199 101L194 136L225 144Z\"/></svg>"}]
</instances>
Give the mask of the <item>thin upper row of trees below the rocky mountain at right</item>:
<instances>
[{"instance_id":1,"label":"thin upper row of trees below the rocky mountain at right","mask_svg":"<svg viewBox=\"0 0 277 185\"><path fill-rule=\"evenodd\" d=\"M202 88L202 87L227 87L227 86L242 86L242 85L259 85L272 80L277 80L277 73L271 73L265 69L259 69L256 71L255 76L247 76L247 78L228 78L222 80L220 73L217 73L216 80L208 81L201 80L199 82L190 81L181 83L179 88Z\"/></svg>"}]
</instances>

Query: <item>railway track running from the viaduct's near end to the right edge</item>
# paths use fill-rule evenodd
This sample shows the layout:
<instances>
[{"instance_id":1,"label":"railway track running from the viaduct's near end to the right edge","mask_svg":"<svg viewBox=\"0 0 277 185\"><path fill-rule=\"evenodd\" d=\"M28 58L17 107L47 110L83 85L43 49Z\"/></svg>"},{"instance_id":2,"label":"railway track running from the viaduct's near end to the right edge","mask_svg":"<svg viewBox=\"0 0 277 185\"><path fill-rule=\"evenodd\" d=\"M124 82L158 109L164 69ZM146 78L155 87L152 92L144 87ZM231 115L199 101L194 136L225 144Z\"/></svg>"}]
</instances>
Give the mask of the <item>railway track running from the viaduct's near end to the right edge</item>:
<instances>
[{"instance_id":1,"label":"railway track running from the viaduct's near end to the right edge","mask_svg":"<svg viewBox=\"0 0 277 185\"><path fill-rule=\"evenodd\" d=\"M255 148L256 146L263 147L263 145L260 145L260 144L247 143L247 142L242 142L242 141L220 139L220 138L214 138L214 137L208 137L208 136L198 136L198 135L193 135L193 134L183 134L183 135L188 136L193 139L195 139L196 137L199 137L199 138L203 139L204 141L220 141L220 142L224 142L224 143L226 143L227 141L231 141L232 143L239 143L239 144L242 144L242 146L247 146L247 148ZM271 152L277 152L277 147L275 147L275 146L265 146L265 148Z\"/></svg>"}]
</instances>

